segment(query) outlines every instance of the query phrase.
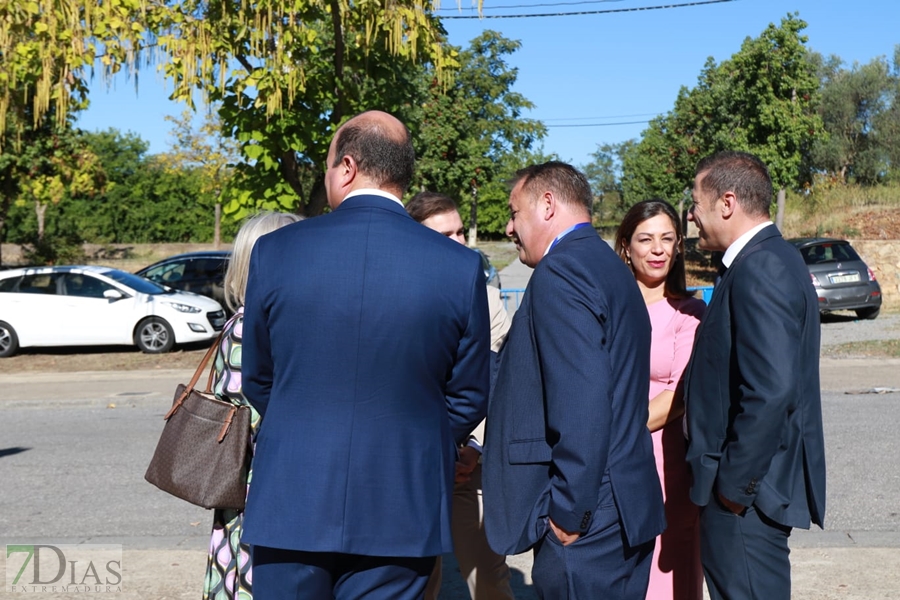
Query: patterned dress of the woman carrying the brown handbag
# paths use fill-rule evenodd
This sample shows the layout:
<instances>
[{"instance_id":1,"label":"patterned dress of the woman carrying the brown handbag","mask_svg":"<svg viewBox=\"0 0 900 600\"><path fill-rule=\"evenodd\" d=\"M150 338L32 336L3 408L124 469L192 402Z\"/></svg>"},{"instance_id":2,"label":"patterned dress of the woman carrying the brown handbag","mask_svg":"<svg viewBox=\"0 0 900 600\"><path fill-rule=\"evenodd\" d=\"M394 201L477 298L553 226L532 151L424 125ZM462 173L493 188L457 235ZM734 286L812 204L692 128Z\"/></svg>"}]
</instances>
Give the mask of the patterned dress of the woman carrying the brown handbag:
<instances>
[{"instance_id":1,"label":"patterned dress of the woman carrying the brown handbag","mask_svg":"<svg viewBox=\"0 0 900 600\"><path fill-rule=\"evenodd\" d=\"M241 389L241 336L244 309L239 308L228 323L219 351L215 356L216 397L242 406L249 406ZM259 413L250 407L251 439L256 439ZM249 457L248 457L249 460ZM247 484L250 483L250 475ZM212 538L206 564L203 600L250 600L252 576L250 548L241 543L244 513L230 509L216 509L213 513Z\"/></svg>"}]
</instances>

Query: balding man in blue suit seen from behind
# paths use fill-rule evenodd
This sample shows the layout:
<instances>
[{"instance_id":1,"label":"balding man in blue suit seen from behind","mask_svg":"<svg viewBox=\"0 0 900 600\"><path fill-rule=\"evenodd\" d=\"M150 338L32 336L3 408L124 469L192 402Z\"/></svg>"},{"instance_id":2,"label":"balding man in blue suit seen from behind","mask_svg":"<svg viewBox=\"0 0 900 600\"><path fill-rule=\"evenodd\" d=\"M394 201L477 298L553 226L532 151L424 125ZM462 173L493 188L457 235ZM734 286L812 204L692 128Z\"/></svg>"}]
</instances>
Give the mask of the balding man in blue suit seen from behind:
<instances>
[{"instance_id":1,"label":"balding man in blue suit seen from behind","mask_svg":"<svg viewBox=\"0 0 900 600\"><path fill-rule=\"evenodd\" d=\"M243 539L259 598L419 598L452 551L490 327L478 255L400 203L414 160L397 119L350 119L328 152L332 212L254 248L243 385L262 425Z\"/></svg>"}]
</instances>

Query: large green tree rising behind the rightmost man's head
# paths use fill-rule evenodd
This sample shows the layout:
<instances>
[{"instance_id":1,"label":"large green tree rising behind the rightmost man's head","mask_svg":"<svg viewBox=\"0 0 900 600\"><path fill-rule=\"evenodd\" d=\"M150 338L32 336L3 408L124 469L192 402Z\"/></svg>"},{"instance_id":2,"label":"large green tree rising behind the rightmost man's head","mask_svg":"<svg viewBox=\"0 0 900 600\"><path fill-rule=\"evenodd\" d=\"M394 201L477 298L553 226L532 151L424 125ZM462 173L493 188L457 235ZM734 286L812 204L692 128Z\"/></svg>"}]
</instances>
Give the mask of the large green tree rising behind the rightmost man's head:
<instances>
[{"instance_id":1,"label":"large green tree rising behind the rightmost man's head","mask_svg":"<svg viewBox=\"0 0 900 600\"><path fill-rule=\"evenodd\" d=\"M796 14L788 15L747 38L730 59L708 59L697 85L682 88L674 109L654 119L626 157L628 202L651 196L675 201L690 187L697 161L720 150L759 156L776 187L808 181L806 158L825 133L805 28Z\"/></svg>"}]
</instances>

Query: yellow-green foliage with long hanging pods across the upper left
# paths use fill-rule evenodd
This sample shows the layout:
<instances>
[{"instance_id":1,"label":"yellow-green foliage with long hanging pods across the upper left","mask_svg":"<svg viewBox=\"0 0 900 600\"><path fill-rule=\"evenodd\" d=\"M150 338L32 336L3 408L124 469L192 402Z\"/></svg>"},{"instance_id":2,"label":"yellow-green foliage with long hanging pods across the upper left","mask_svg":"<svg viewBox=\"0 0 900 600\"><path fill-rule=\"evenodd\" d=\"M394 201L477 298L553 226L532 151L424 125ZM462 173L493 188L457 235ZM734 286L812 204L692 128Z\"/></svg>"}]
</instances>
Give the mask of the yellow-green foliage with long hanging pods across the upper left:
<instances>
[{"instance_id":1,"label":"yellow-green foliage with long hanging pods across the upper left","mask_svg":"<svg viewBox=\"0 0 900 600\"><path fill-rule=\"evenodd\" d=\"M452 58L443 31L422 0L22 0L0 3L0 136L10 113L28 107L37 124L53 113L62 126L73 103L83 106L99 60L106 77L158 61L173 97L231 89L272 117L292 107L308 85L300 49L322 50L330 28L336 81L348 53L372 51L429 62ZM21 90L24 97L19 97ZM14 123L16 133L24 126Z\"/></svg>"}]
</instances>

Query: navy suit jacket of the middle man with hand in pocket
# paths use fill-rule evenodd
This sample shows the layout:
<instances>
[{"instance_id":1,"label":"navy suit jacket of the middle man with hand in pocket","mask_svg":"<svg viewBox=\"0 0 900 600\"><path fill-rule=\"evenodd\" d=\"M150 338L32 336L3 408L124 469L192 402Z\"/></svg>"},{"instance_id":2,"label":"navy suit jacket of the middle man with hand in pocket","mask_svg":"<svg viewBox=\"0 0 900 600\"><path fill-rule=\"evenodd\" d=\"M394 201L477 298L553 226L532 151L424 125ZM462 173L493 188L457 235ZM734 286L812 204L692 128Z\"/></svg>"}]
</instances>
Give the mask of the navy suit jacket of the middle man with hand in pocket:
<instances>
[{"instance_id":1,"label":"navy suit jacket of the middle man with hand in pocket","mask_svg":"<svg viewBox=\"0 0 900 600\"><path fill-rule=\"evenodd\" d=\"M531 547L547 516L586 532L601 509L632 545L662 531L649 364L634 276L593 229L569 233L535 268L500 355L483 481L495 551Z\"/></svg>"}]
</instances>

